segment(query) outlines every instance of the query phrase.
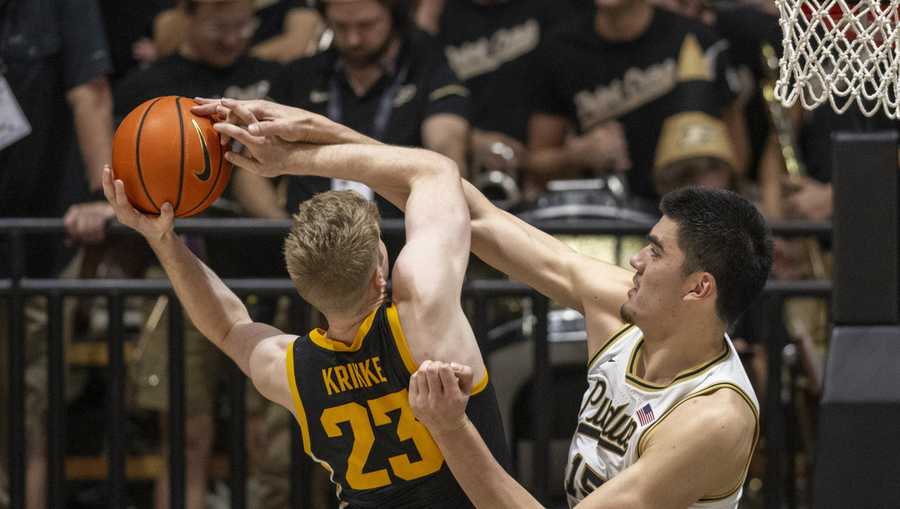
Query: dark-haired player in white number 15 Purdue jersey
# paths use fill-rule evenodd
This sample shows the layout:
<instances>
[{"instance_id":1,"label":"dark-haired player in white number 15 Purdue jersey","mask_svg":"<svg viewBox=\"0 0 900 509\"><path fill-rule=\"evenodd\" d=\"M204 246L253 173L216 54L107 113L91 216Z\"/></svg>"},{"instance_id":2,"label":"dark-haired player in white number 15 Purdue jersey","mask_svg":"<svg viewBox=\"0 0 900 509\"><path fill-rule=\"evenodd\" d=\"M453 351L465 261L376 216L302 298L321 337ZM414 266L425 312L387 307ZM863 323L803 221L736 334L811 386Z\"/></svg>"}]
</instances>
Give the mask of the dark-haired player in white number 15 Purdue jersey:
<instances>
[{"instance_id":1,"label":"dark-haired player in white number 15 Purdue jersey","mask_svg":"<svg viewBox=\"0 0 900 509\"><path fill-rule=\"evenodd\" d=\"M233 121L247 129L217 129L261 160L228 155L250 171L300 168L306 149L283 141L322 141L325 130L309 128L322 122L318 116L264 101L225 106L240 112ZM214 109L207 103L195 111ZM354 139L345 131L331 136ZM407 164L408 155L415 154L397 152L395 164ZM726 329L759 295L772 264L769 230L756 208L724 190L667 194L663 218L630 272L575 252L463 187L473 252L585 315L588 389L565 476L569 505L737 507L759 434L759 403ZM405 191L392 187L392 199L401 201ZM465 369L456 367L468 392ZM480 366L473 371L478 379ZM466 494L483 508L539 506L491 458L450 374L445 365L423 363L410 400Z\"/></svg>"}]
</instances>

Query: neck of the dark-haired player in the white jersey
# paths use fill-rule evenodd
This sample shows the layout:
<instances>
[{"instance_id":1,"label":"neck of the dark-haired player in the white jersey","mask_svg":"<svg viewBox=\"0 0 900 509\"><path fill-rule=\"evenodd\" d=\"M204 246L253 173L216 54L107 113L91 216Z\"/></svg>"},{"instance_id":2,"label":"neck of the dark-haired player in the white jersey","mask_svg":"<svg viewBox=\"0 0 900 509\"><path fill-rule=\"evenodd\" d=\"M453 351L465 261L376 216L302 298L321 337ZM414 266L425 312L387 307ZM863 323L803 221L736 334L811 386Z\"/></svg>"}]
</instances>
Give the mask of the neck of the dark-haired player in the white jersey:
<instances>
[{"instance_id":1,"label":"neck of the dark-haired player in the white jersey","mask_svg":"<svg viewBox=\"0 0 900 509\"><path fill-rule=\"evenodd\" d=\"M636 375L653 384L667 385L678 374L721 355L725 327L720 321L679 322L695 325L676 327L668 333L648 334L644 331L640 362L635 366Z\"/></svg>"}]
</instances>

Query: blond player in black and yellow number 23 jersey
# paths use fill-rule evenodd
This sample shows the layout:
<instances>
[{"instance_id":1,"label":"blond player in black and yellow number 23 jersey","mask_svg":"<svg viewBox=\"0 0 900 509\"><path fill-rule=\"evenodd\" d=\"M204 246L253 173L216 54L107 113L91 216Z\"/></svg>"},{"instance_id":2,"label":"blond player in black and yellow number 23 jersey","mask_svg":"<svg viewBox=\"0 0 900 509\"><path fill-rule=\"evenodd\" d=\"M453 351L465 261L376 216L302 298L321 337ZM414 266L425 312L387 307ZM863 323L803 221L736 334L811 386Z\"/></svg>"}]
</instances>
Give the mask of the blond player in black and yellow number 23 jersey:
<instances>
[{"instance_id":1,"label":"blond player in black and yellow number 23 jersey","mask_svg":"<svg viewBox=\"0 0 900 509\"><path fill-rule=\"evenodd\" d=\"M402 189L405 199L396 203L406 209L407 242L388 296L375 205L354 191L329 191L300 205L285 241L287 268L300 295L328 321L328 330L302 337L251 321L241 300L173 232L170 204L158 218L141 215L109 169L104 191L119 221L147 239L197 329L261 394L294 413L306 453L330 471L342 502L471 507L407 395L424 359L471 365L479 382L470 419L506 461L496 397L460 305L470 230L458 170L417 149L293 148L289 164L297 173L353 178L388 195Z\"/></svg>"}]
</instances>

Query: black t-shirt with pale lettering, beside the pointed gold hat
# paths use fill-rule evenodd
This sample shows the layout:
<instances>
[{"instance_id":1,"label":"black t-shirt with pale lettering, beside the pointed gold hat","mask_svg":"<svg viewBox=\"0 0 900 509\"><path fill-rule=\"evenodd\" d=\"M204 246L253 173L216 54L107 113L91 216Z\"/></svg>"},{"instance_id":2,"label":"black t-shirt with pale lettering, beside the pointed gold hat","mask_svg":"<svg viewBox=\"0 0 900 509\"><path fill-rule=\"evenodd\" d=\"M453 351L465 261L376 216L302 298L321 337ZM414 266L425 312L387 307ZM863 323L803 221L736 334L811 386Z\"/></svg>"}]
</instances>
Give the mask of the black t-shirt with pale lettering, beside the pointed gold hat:
<instances>
[{"instance_id":1,"label":"black t-shirt with pale lettering, beside the pointed gold hat","mask_svg":"<svg viewBox=\"0 0 900 509\"><path fill-rule=\"evenodd\" d=\"M652 169L663 121L681 111L719 117L734 98L727 46L700 22L660 8L640 37L624 42L601 38L587 17L550 34L538 50L536 109L566 117L579 134L621 122L633 164L630 190L656 200Z\"/></svg>"}]
</instances>

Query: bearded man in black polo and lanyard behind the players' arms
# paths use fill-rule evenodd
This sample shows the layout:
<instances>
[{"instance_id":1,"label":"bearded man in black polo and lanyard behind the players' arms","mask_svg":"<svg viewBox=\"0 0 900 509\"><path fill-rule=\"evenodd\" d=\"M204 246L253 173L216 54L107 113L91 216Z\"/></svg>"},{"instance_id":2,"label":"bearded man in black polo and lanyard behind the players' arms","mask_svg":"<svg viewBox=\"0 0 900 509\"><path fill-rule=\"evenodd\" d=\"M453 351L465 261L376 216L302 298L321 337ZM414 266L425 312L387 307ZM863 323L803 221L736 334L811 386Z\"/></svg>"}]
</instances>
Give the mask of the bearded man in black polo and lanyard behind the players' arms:
<instances>
[{"instance_id":1,"label":"bearded man in black polo and lanyard behind the players' arms","mask_svg":"<svg viewBox=\"0 0 900 509\"><path fill-rule=\"evenodd\" d=\"M436 41L411 26L408 2L330 0L318 8L334 33L333 46L289 64L273 98L385 143L430 148L465 168L468 91ZM317 192L348 185L291 178L288 210ZM378 203L383 216L400 215L385 200Z\"/></svg>"}]
</instances>

